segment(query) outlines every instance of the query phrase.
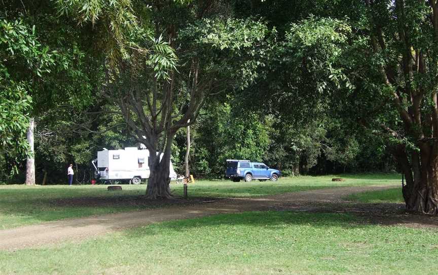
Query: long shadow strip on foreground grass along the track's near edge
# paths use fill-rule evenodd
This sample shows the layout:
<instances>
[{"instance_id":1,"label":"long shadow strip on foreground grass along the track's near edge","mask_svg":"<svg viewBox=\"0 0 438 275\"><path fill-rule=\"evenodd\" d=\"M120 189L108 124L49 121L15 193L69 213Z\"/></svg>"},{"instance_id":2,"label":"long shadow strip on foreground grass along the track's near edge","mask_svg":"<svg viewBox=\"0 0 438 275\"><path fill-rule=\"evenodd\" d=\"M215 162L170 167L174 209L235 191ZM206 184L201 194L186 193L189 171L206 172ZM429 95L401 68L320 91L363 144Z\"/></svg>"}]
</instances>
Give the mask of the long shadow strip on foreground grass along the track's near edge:
<instances>
[{"instance_id":1,"label":"long shadow strip on foreground grass along the track's near edge","mask_svg":"<svg viewBox=\"0 0 438 275\"><path fill-rule=\"evenodd\" d=\"M267 232L272 230L282 230L288 226L305 226L314 229L323 229L329 232L336 231L336 228L354 229L368 228L378 225L400 225L400 220L392 218L382 220L364 219L364 216L353 215L351 213L320 213L320 212L297 212L297 211L276 211L276 212L245 212L236 214L221 214L204 218L164 222L134 228L125 231L129 238L143 238L144 235L158 235L163 231L167 234L169 231L175 232L197 232L205 228L211 230L223 230L226 234L229 232L238 232L241 228L262 227ZM413 218L413 219L412 219ZM426 222L425 219L429 219ZM411 215L410 221L416 221L427 227L438 227L436 219L425 217L423 215ZM415 226L422 228L422 226ZM250 229L249 229L250 230ZM213 233L214 234L214 233Z\"/></svg>"}]
</instances>

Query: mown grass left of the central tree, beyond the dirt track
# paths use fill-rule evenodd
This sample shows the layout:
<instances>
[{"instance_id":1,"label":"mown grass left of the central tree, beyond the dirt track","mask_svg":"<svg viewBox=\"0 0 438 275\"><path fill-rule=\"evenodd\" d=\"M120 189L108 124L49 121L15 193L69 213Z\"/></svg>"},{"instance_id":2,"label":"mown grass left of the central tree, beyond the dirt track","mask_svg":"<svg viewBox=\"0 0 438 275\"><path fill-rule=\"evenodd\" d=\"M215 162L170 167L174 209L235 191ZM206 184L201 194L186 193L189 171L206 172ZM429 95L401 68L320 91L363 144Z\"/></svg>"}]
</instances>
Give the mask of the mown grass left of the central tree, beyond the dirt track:
<instances>
[{"instance_id":1,"label":"mown grass left of the central tree, beyond the dirt track","mask_svg":"<svg viewBox=\"0 0 438 275\"><path fill-rule=\"evenodd\" d=\"M144 191L129 187L124 195L140 195ZM59 203L75 198L120 196L120 192L109 192L106 186L0 186L0 229L12 228L26 224L41 223L65 218L76 218L104 213L132 210L121 205L105 207L81 204Z\"/></svg>"}]
</instances>

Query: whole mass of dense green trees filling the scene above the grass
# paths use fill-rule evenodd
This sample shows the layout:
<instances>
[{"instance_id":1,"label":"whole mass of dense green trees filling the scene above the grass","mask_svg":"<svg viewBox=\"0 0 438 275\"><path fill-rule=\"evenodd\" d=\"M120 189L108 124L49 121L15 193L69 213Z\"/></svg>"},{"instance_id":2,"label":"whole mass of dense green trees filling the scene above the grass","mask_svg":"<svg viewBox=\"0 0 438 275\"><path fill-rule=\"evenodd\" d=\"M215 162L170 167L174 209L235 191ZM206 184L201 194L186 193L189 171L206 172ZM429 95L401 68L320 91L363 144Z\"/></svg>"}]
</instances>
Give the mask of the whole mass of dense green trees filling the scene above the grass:
<instances>
[{"instance_id":1,"label":"whole mass of dense green trees filling the scene above the grass","mask_svg":"<svg viewBox=\"0 0 438 275\"><path fill-rule=\"evenodd\" d=\"M397 170L409 209L438 210L435 0L0 5L4 183L32 183L33 162L36 183L68 163L87 183L97 151L140 142L184 174L190 127L197 177L221 178L227 158L289 176ZM168 167L151 169L148 196L166 197Z\"/></svg>"}]
</instances>

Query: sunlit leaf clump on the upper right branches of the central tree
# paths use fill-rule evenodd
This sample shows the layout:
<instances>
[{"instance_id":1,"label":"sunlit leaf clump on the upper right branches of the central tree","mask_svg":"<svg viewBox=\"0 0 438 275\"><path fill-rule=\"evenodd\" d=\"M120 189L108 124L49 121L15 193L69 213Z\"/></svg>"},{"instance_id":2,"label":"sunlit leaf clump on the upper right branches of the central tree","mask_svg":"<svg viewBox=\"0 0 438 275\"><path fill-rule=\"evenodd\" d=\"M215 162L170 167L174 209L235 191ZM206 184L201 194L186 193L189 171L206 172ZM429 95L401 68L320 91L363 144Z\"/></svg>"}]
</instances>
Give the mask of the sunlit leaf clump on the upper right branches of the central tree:
<instances>
[{"instance_id":1,"label":"sunlit leaf clump on the upper right branches of the central tree","mask_svg":"<svg viewBox=\"0 0 438 275\"><path fill-rule=\"evenodd\" d=\"M261 20L204 19L182 29L178 38L191 46L188 57L204 59L206 72L234 80L228 89L244 89L264 78L261 69L275 32Z\"/></svg>"}]
</instances>

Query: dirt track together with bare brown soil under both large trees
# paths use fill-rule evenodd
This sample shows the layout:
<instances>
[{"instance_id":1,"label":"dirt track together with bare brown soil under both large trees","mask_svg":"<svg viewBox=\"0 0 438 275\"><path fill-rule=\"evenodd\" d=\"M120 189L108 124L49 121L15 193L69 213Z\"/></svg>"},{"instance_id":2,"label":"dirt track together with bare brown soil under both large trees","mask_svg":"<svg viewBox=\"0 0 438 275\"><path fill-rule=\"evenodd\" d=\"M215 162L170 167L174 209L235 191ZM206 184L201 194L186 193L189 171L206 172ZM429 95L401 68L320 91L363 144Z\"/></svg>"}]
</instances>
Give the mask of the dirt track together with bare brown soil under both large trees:
<instances>
[{"instance_id":1,"label":"dirt track together with bare brown soil under both large trees","mask_svg":"<svg viewBox=\"0 0 438 275\"><path fill-rule=\"evenodd\" d=\"M55 205L140 205L160 207L144 211L107 214L46 222L38 225L0 230L0 250L38 247L65 240L80 240L94 235L150 223L204 217L244 211L303 211L348 213L360 216L363 223L438 228L438 217L408 213L399 203L355 203L343 200L346 195L383 190L393 186L339 187L287 193L260 198L175 198L145 200L143 196L74 198L53 201ZM161 203L161 204L160 204Z\"/></svg>"}]
</instances>

